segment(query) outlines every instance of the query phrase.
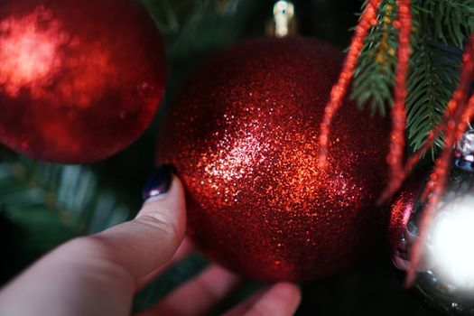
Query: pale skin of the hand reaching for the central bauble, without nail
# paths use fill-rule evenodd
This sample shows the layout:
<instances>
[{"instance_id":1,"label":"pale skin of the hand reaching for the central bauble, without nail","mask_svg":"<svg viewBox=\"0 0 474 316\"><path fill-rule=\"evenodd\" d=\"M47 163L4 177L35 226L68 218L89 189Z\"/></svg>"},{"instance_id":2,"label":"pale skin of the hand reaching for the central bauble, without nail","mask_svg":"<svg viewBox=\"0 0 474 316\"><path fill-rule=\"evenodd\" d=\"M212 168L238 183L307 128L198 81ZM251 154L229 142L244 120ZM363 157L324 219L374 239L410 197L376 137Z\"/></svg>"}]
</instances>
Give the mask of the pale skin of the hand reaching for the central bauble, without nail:
<instances>
[{"instance_id":1,"label":"pale skin of the hand reaching for the central bauble, without nail","mask_svg":"<svg viewBox=\"0 0 474 316\"><path fill-rule=\"evenodd\" d=\"M146 201L134 220L58 247L7 284L0 315L130 315L136 291L191 252L185 214L181 181L174 177L170 191ZM138 315L205 315L240 282L210 265ZM226 315L293 315L300 301L297 286L276 283Z\"/></svg>"}]
</instances>

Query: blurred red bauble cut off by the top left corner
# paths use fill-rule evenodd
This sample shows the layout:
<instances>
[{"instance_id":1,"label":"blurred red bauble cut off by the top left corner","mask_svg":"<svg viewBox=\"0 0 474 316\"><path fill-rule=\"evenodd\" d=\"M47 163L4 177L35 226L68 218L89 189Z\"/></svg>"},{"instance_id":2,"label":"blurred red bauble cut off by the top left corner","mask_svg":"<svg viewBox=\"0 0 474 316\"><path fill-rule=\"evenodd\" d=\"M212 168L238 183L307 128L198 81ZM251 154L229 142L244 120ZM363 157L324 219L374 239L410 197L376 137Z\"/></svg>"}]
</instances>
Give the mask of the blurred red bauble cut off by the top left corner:
<instances>
[{"instance_id":1,"label":"blurred red bauble cut off by the top left corner","mask_svg":"<svg viewBox=\"0 0 474 316\"><path fill-rule=\"evenodd\" d=\"M0 63L0 143L41 160L120 151L163 98L163 42L134 1L2 1Z\"/></svg>"}]
</instances>

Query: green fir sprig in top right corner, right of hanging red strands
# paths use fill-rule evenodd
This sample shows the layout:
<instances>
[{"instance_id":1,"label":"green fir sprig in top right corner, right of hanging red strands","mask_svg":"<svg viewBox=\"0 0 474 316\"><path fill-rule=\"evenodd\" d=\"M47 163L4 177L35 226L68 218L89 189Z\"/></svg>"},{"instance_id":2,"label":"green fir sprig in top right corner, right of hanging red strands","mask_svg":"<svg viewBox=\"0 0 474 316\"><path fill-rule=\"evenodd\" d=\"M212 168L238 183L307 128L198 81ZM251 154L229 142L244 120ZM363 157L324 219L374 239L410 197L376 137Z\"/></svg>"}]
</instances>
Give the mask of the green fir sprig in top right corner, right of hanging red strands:
<instances>
[{"instance_id":1,"label":"green fir sprig in top right corner, right of hanging red strands","mask_svg":"<svg viewBox=\"0 0 474 316\"><path fill-rule=\"evenodd\" d=\"M466 9L460 1L452 0L430 0L414 5L414 19L418 23L414 28L406 97L407 136L412 151L422 146L426 135L440 121L459 79L461 51L455 43L460 41L462 45L469 33L458 33L467 27L467 19L459 18L464 15L449 10L450 7ZM450 23L445 22L442 27L440 17L434 13L443 9L448 10L448 15L458 16L458 19L452 18ZM442 135L432 147L432 158L439 147L442 147Z\"/></svg>"}]
</instances>

